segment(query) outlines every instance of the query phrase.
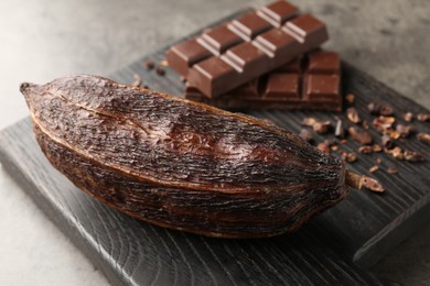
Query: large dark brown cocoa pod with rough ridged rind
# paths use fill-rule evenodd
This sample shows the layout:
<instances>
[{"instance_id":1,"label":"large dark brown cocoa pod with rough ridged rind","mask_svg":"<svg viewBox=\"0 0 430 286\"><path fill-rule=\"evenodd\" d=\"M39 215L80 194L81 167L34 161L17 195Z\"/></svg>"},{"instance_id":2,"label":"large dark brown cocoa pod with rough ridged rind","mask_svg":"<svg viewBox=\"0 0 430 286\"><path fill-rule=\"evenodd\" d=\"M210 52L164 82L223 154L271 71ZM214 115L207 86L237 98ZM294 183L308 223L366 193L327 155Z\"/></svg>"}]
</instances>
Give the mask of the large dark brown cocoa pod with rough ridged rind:
<instances>
[{"instance_id":1,"label":"large dark brown cocoa pod with rough ridged rind","mask_svg":"<svg viewBox=\"0 0 430 286\"><path fill-rule=\"evenodd\" d=\"M209 237L271 237L347 194L340 160L250 117L94 76L21 90L50 162L143 221Z\"/></svg>"}]
</instances>

